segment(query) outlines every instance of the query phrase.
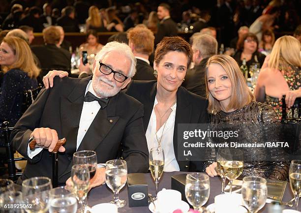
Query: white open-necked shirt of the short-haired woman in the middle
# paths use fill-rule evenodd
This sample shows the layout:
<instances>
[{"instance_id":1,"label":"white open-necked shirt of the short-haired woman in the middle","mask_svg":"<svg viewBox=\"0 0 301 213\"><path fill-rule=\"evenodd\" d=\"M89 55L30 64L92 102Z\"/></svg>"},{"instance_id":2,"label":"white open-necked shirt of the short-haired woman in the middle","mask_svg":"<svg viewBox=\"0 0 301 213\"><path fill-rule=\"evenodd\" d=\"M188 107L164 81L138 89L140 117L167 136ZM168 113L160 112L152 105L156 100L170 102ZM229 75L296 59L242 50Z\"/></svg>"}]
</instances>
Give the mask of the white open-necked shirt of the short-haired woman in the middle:
<instances>
[{"instance_id":1,"label":"white open-necked shirt of the short-haired woman in the middle","mask_svg":"<svg viewBox=\"0 0 301 213\"><path fill-rule=\"evenodd\" d=\"M158 103L157 98L155 97L151 119L149 122L148 129L145 133L148 142L149 152L151 148L158 146L158 141L156 138L156 114L154 112L154 107ZM180 171L179 164L176 159L175 151L174 151L174 128L175 128L175 119L176 119L176 109L177 103L175 103L171 107L171 114L166 121L166 125L164 128L164 124L160 127L157 132L158 140L161 140L161 147L164 151L165 164L164 164L164 172L174 172ZM164 131L163 131L164 128ZM162 139L161 139L162 137Z\"/></svg>"}]
</instances>

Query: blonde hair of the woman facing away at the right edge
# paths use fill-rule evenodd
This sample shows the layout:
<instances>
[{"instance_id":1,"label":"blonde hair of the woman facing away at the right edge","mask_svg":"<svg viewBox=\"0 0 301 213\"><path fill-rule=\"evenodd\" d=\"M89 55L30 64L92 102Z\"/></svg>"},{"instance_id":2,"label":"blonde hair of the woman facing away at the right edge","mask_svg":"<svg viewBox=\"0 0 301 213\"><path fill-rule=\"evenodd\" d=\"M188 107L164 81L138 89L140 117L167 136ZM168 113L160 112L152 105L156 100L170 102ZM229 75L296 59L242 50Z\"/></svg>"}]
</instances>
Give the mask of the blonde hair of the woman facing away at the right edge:
<instances>
[{"instance_id":1,"label":"blonde hair of the woman facing away at the right edge","mask_svg":"<svg viewBox=\"0 0 301 213\"><path fill-rule=\"evenodd\" d=\"M278 38L272 48L269 68L278 70L289 65L301 67L300 42L291 35Z\"/></svg>"}]
</instances>

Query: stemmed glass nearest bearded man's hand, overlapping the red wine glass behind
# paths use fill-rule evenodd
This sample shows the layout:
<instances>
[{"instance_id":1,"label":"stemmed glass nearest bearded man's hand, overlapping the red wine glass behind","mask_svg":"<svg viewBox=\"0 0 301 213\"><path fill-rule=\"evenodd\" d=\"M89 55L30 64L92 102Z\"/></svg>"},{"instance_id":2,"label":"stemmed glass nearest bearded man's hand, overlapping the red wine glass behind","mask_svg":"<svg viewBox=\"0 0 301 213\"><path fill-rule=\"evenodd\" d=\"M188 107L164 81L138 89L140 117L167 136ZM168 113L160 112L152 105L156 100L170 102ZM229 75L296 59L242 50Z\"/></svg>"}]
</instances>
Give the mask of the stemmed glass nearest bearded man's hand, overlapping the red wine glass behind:
<instances>
[{"instance_id":1,"label":"stemmed glass nearest bearded man's hand, overlapping the red wine glass behind","mask_svg":"<svg viewBox=\"0 0 301 213\"><path fill-rule=\"evenodd\" d=\"M90 211L87 204L87 195L89 191L90 171L85 165L73 165L71 169L72 190L78 200L78 213L86 213Z\"/></svg>"}]
</instances>

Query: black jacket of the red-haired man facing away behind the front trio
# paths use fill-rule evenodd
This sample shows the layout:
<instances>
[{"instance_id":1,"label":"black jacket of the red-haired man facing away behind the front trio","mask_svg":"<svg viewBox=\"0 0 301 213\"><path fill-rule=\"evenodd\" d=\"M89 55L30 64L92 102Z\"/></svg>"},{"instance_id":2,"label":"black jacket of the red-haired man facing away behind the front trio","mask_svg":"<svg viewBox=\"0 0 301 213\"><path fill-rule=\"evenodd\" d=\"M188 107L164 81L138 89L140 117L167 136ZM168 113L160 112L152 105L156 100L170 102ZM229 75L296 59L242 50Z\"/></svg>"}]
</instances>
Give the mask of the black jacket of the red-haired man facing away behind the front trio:
<instances>
[{"instance_id":1,"label":"black jacket of the red-haired man facing away behind the front trio","mask_svg":"<svg viewBox=\"0 0 301 213\"><path fill-rule=\"evenodd\" d=\"M136 65L137 72L132 78L133 80L150 81L155 80L153 75L153 68L146 61L137 59Z\"/></svg>"}]
</instances>

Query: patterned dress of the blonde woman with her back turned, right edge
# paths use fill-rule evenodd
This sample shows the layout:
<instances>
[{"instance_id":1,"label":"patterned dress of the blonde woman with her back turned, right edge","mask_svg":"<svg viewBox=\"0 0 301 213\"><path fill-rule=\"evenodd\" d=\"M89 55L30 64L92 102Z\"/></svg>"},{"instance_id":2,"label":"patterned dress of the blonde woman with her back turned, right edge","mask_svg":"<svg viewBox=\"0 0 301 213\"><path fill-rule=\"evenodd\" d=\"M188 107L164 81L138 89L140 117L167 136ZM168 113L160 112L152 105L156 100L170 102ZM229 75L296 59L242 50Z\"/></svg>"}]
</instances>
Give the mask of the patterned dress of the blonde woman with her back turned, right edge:
<instances>
[{"instance_id":1,"label":"patterned dress of the blonde woman with her back turned, right edge","mask_svg":"<svg viewBox=\"0 0 301 213\"><path fill-rule=\"evenodd\" d=\"M290 91L298 90L301 87L300 67L289 66L286 69L280 69L280 70L284 70L283 77L287 82ZM275 110L275 112L278 114L279 119L281 119L282 100L279 100L276 97L271 97L269 95L266 95L265 103L271 105L272 108ZM292 115L292 110L287 109L287 118L293 118L293 117L298 118L298 110L296 109L294 115Z\"/></svg>"}]
</instances>

